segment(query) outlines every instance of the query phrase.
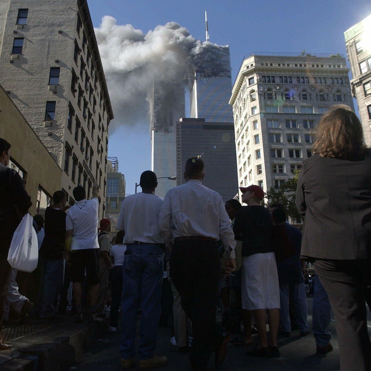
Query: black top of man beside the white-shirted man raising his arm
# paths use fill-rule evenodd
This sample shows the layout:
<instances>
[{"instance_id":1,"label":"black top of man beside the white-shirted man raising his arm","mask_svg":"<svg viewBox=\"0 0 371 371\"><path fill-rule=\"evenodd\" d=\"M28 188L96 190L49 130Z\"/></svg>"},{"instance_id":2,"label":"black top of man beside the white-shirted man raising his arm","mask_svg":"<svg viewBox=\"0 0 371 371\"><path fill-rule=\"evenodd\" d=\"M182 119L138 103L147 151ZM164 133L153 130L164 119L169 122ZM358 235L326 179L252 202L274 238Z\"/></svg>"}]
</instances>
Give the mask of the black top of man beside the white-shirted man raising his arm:
<instances>
[{"instance_id":1,"label":"black top of man beside the white-shirted man raising his arm","mask_svg":"<svg viewBox=\"0 0 371 371\"><path fill-rule=\"evenodd\" d=\"M46 259L62 259L65 249L66 213L48 206L45 210L45 237L39 255Z\"/></svg>"}]
</instances>

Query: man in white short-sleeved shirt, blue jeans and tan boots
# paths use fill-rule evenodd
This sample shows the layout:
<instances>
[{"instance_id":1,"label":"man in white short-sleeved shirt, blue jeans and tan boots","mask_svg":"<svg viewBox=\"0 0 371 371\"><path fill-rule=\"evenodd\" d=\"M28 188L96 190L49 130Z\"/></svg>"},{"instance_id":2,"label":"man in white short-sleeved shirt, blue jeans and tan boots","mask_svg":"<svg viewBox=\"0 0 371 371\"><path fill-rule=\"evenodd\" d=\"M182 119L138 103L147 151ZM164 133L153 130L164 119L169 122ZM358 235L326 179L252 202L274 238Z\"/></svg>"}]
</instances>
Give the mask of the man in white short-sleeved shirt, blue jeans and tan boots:
<instances>
[{"instance_id":1,"label":"man in white short-sleeved shirt, blue jeans and tan boots","mask_svg":"<svg viewBox=\"0 0 371 371\"><path fill-rule=\"evenodd\" d=\"M139 308L142 309L139 369L161 367L167 358L154 354L161 315L161 285L164 275L164 240L158 228L162 197L155 195L157 177L147 170L140 177L141 193L122 201L116 229L125 231L122 265L121 368L133 366Z\"/></svg>"}]
</instances>

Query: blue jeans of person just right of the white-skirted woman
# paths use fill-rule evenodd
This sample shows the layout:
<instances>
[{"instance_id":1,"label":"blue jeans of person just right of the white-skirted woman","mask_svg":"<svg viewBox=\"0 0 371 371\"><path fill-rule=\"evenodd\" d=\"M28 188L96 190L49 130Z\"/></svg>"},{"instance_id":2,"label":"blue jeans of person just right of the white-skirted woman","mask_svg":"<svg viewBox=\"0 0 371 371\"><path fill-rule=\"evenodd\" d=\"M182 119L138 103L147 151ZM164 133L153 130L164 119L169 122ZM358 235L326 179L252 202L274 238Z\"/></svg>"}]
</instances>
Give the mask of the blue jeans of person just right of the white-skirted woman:
<instances>
[{"instance_id":1,"label":"blue jeans of person just right of the white-skirted woman","mask_svg":"<svg viewBox=\"0 0 371 371\"><path fill-rule=\"evenodd\" d=\"M293 290L293 305L295 312L296 323L298 324L300 332L309 331L307 320L307 305L305 285L303 283L282 284L279 286L280 294L280 311L279 311L279 331L290 332L291 321L289 311L289 290Z\"/></svg>"}]
</instances>

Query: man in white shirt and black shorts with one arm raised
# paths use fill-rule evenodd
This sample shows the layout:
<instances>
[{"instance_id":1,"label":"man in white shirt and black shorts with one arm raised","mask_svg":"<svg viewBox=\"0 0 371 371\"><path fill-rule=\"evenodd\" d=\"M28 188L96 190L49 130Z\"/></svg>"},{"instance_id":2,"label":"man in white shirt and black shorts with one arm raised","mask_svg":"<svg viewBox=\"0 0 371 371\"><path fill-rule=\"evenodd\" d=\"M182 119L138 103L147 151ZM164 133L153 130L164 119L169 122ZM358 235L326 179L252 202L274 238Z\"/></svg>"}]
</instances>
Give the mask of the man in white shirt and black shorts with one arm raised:
<instances>
[{"instance_id":1,"label":"man in white shirt and black shorts with one arm raised","mask_svg":"<svg viewBox=\"0 0 371 371\"><path fill-rule=\"evenodd\" d=\"M76 187L73 190L75 205L67 211L66 250L71 251L75 322L83 321L81 293L85 270L89 285L89 322L96 322L96 301L99 292L98 188L98 184L94 184L93 197L86 200L85 189L81 185Z\"/></svg>"}]
</instances>

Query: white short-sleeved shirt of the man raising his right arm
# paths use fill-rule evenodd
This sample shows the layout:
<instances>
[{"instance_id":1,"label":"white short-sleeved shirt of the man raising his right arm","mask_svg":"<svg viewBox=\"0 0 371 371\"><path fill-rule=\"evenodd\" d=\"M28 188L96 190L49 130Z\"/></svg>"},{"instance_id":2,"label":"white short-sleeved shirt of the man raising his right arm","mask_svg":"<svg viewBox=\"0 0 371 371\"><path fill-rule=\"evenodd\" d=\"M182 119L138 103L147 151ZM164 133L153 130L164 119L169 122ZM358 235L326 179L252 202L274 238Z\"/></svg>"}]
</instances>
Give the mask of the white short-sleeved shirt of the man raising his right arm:
<instances>
[{"instance_id":1,"label":"white short-sleeved shirt of the man raising his right arm","mask_svg":"<svg viewBox=\"0 0 371 371\"><path fill-rule=\"evenodd\" d=\"M73 230L71 250L99 249L98 198L76 201L67 211L66 230Z\"/></svg>"}]
</instances>

